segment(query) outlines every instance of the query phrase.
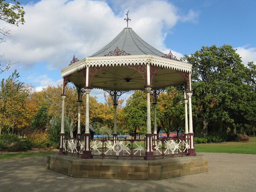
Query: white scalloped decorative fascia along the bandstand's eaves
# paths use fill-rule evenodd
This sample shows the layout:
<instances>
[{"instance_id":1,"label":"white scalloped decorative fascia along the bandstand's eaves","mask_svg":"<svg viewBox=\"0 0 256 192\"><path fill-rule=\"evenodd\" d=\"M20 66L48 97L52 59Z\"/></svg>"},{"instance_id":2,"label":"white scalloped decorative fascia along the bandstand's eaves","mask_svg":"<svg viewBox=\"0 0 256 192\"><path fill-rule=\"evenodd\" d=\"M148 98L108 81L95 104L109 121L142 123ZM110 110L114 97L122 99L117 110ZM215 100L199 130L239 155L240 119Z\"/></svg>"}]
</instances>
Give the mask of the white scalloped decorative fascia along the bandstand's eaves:
<instances>
[{"instance_id":1,"label":"white scalloped decorative fascia along the bandstand's eaves","mask_svg":"<svg viewBox=\"0 0 256 192\"><path fill-rule=\"evenodd\" d=\"M170 60L154 55L129 55L129 56L111 56L111 57L86 57L76 63L69 65L66 68L61 69L61 77L70 75L76 71L89 66L121 66L121 65L155 65L158 67L169 68L174 70L180 70L191 73L192 65L189 63Z\"/></svg>"}]
</instances>

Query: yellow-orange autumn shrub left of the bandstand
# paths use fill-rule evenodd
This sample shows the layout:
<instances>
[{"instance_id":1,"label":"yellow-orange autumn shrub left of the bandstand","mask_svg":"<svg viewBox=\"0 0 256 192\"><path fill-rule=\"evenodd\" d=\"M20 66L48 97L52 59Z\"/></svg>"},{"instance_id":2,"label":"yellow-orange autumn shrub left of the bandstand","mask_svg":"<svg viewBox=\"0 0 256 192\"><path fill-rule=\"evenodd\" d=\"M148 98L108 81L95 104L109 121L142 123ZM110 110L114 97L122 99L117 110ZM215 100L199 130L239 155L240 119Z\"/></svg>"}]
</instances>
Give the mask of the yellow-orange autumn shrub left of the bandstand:
<instances>
[{"instance_id":1,"label":"yellow-orange autumn shrub left of the bandstand","mask_svg":"<svg viewBox=\"0 0 256 192\"><path fill-rule=\"evenodd\" d=\"M34 148L46 148L50 146L49 133L36 131L27 135L27 140L30 141Z\"/></svg>"}]
</instances>

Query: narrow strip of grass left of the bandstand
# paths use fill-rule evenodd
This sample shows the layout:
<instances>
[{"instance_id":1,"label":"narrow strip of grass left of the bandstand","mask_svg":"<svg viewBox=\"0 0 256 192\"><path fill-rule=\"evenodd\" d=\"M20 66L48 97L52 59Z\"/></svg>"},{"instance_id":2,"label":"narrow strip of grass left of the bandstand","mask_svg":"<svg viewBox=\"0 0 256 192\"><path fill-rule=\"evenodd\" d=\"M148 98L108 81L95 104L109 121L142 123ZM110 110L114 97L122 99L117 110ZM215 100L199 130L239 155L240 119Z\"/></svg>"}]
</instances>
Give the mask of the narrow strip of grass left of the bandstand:
<instances>
[{"instance_id":1,"label":"narrow strip of grass left of the bandstand","mask_svg":"<svg viewBox=\"0 0 256 192\"><path fill-rule=\"evenodd\" d=\"M0 154L0 160L16 159L16 158L22 158L22 157L43 157L43 156L47 156L49 154L54 154L54 153L56 152L50 151L50 152L2 153Z\"/></svg>"}]
</instances>

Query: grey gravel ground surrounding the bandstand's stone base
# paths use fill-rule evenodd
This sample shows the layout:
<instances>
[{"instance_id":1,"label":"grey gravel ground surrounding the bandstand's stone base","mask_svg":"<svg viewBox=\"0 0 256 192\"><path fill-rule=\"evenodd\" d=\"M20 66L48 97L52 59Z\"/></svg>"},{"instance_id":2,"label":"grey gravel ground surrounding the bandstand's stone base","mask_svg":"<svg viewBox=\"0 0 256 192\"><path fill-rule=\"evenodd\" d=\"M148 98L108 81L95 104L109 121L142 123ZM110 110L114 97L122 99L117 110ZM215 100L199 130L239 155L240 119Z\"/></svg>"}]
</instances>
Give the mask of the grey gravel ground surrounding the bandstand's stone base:
<instances>
[{"instance_id":1,"label":"grey gravel ground surrounding the bandstand's stone base","mask_svg":"<svg viewBox=\"0 0 256 192\"><path fill-rule=\"evenodd\" d=\"M165 180L72 178L46 169L46 157L0 161L0 191L256 191L256 155L200 153L208 173Z\"/></svg>"}]
</instances>

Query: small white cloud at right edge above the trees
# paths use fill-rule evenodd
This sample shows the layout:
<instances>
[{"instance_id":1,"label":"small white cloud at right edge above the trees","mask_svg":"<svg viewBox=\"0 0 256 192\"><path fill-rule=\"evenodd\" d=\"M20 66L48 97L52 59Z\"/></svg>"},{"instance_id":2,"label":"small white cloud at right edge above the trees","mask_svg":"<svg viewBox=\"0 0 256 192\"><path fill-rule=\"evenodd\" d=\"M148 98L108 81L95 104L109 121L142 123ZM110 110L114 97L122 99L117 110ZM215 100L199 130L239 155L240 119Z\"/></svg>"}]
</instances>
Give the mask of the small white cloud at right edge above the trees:
<instances>
[{"instance_id":1,"label":"small white cloud at right edge above the trees","mask_svg":"<svg viewBox=\"0 0 256 192\"><path fill-rule=\"evenodd\" d=\"M244 45L242 47L236 47L236 52L242 57L244 65L247 65L249 61L256 63L256 47L249 47Z\"/></svg>"}]
</instances>

